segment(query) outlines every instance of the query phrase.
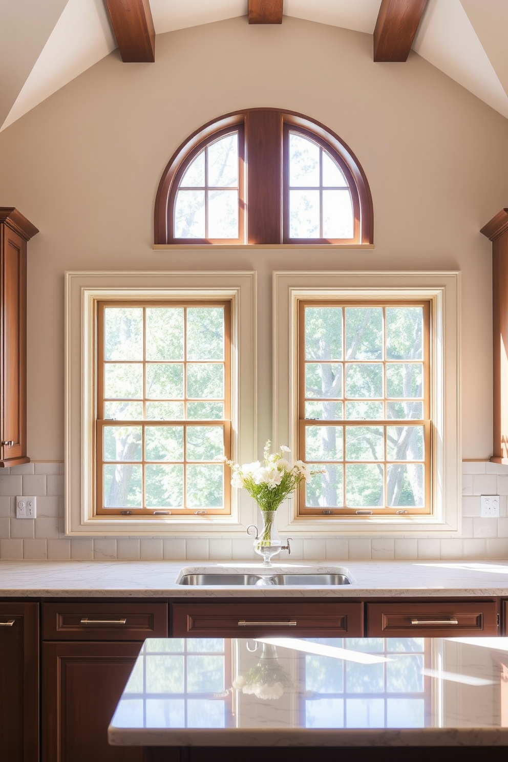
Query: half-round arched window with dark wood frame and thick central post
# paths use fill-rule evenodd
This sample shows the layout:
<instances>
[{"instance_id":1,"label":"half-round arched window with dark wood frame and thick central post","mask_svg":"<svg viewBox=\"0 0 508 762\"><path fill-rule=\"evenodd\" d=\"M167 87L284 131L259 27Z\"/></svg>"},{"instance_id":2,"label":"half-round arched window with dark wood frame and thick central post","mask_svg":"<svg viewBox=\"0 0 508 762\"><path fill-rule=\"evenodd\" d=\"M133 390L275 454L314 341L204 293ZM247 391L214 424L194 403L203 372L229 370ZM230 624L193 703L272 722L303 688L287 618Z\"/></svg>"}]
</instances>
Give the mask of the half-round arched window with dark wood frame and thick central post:
<instances>
[{"instance_id":1,"label":"half-round arched window with dark wood frame and thick central post","mask_svg":"<svg viewBox=\"0 0 508 762\"><path fill-rule=\"evenodd\" d=\"M372 240L372 198L356 157L296 114L252 109L203 126L171 158L158 187L156 244Z\"/></svg>"}]
</instances>

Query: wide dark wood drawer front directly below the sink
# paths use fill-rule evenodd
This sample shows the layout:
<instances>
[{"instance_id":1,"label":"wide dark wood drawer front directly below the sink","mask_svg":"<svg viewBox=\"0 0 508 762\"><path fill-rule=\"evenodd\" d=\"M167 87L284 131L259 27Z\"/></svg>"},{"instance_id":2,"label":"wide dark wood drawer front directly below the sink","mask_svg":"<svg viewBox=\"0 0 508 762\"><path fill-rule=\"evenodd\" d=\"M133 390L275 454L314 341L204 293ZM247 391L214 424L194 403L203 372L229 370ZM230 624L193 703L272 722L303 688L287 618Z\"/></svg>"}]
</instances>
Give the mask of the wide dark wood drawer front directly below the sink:
<instances>
[{"instance_id":1,"label":"wide dark wood drawer front directly below the sink","mask_svg":"<svg viewBox=\"0 0 508 762\"><path fill-rule=\"evenodd\" d=\"M363 635L363 604L172 604L174 637Z\"/></svg>"}]
</instances>

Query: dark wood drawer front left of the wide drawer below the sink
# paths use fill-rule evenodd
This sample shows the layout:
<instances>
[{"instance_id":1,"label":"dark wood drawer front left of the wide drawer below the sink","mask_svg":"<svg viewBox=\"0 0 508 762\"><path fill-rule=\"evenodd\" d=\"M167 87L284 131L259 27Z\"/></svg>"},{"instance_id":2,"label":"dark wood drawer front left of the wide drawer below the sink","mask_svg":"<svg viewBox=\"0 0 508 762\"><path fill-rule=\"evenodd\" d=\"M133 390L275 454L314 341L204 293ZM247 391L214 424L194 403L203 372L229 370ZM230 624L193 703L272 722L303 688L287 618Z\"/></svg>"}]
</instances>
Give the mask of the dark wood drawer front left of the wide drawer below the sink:
<instances>
[{"instance_id":1,"label":"dark wood drawer front left of the wide drawer below the sink","mask_svg":"<svg viewBox=\"0 0 508 762\"><path fill-rule=\"evenodd\" d=\"M43 604L43 640L168 636L168 604Z\"/></svg>"}]
</instances>

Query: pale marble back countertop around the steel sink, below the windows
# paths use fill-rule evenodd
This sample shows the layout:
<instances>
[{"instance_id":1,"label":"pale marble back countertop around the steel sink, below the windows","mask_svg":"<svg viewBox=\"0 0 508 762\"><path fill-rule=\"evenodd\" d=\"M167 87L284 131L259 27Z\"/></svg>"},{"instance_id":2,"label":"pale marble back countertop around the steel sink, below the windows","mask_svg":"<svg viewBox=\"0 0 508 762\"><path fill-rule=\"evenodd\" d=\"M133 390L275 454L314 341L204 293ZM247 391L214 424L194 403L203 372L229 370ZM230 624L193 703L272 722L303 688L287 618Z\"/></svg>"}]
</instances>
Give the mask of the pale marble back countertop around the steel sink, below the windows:
<instances>
[{"instance_id":1,"label":"pale marble back countertop around the steel sink, below the windows","mask_svg":"<svg viewBox=\"0 0 508 762\"><path fill-rule=\"evenodd\" d=\"M508 561L341 561L274 564L270 574L344 571L351 584L187 586L187 573L267 573L252 562L0 561L0 597L457 597L508 596Z\"/></svg>"}]
</instances>

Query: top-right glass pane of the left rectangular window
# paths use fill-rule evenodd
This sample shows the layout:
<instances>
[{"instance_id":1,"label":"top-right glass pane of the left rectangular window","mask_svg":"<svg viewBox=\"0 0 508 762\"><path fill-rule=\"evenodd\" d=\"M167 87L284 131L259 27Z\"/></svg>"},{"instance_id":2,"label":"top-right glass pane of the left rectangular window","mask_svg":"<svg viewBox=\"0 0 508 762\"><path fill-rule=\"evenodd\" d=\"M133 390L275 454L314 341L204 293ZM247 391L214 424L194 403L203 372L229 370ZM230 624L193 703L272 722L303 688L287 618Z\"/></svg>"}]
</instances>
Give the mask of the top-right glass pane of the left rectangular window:
<instances>
[{"instance_id":1,"label":"top-right glass pane of the left rectangular window","mask_svg":"<svg viewBox=\"0 0 508 762\"><path fill-rule=\"evenodd\" d=\"M187 360L224 360L224 308L187 309Z\"/></svg>"}]
</instances>

